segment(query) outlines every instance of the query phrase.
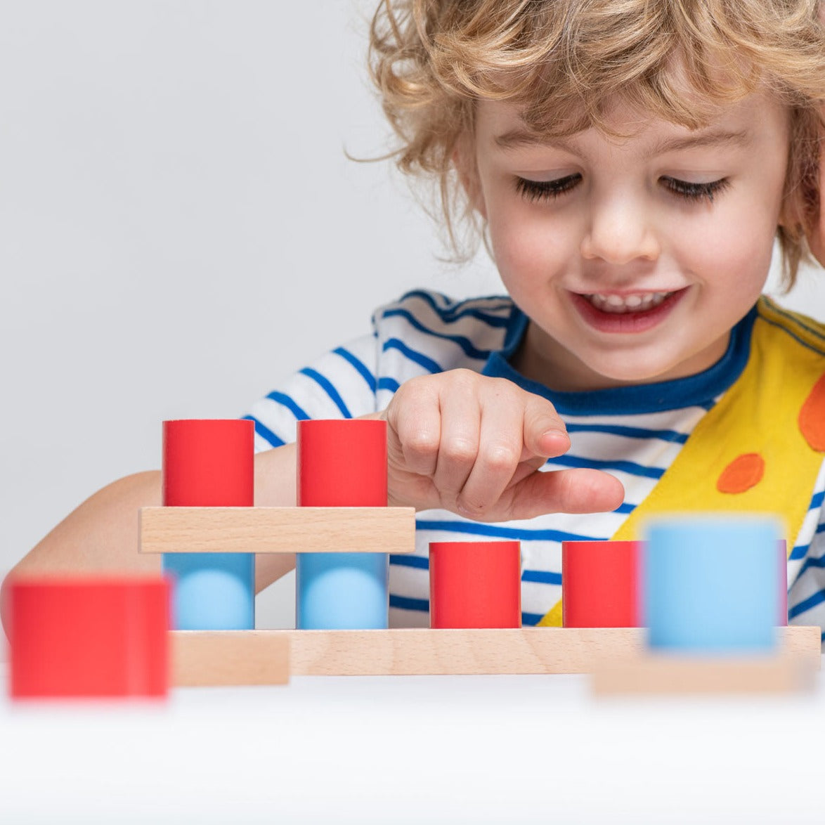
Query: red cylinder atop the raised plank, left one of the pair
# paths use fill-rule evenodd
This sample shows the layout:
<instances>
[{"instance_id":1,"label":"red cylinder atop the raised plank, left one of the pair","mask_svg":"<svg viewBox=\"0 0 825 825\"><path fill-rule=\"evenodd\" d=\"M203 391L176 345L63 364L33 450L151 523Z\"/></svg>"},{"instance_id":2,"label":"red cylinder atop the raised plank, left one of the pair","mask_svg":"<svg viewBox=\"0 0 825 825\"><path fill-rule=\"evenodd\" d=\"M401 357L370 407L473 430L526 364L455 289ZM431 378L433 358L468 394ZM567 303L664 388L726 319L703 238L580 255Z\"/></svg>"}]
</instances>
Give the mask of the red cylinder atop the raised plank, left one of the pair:
<instances>
[{"instance_id":1,"label":"red cylinder atop the raised plank, left one of the pair","mask_svg":"<svg viewBox=\"0 0 825 825\"><path fill-rule=\"evenodd\" d=\"M164 507L252 507L254 441L246 419L163 422Z\"/></svg>"}]
</instances>

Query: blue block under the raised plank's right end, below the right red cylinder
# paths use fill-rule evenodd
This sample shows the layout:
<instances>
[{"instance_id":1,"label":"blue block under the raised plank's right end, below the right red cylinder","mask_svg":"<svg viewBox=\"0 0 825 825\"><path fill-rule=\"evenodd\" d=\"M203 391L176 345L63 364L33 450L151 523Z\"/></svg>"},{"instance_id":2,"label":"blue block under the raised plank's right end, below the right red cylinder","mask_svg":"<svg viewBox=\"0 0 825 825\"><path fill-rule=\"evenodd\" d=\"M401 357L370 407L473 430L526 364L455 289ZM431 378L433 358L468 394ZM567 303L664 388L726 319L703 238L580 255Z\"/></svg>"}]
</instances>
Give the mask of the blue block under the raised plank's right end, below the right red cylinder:
<instances>
[{"instance_id":1,"label":"blue block under the raised plank's right end, below the right red cylinder","mask_svg":"<svg viewBox=\"0 0 825 825\"><path fill-rule=\"evenodd\" d=\"M299 553L295 557L295 627L301 630L386 629L389 556Z\"/></svg>"}]
</instances>

